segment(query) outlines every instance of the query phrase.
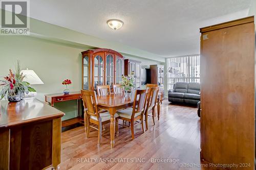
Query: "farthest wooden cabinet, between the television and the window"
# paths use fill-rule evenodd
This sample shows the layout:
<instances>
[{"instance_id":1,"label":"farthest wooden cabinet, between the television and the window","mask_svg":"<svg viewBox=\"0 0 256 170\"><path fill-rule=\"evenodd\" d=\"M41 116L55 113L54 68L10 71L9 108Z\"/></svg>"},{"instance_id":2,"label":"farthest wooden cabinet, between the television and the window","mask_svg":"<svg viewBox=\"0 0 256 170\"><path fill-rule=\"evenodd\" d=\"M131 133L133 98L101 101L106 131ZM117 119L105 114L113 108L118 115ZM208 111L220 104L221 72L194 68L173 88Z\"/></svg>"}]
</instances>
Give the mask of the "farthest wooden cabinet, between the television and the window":
<instances>
[{"instance_id":1,"label":"farthest wooden cabinet, between the television and the window","mask_svg":"<svg viewBox=\"0 0 256 170\"><path fill-rule=\"evenodd\" d=\"M151 70L151 84L164 86L164 66L163 65L150 65Z\"/></svg>"}]
</instances>

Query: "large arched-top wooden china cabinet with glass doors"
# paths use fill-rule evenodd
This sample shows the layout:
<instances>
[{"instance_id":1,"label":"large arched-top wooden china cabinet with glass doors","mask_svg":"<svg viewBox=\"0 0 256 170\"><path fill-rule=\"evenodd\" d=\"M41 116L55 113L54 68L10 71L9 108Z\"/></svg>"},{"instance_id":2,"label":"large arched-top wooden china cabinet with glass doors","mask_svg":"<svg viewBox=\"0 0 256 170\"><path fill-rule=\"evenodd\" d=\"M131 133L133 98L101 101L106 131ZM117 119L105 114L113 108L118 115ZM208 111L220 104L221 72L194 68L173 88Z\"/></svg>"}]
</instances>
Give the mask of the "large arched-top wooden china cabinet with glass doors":
<instances>
[{"instance_id":1,"label":"large arched-top wooden china cabinet with glass doors","mask_svg":"<svg viewBox=\"0 0 256 170\"><path fill-rule=\"evenodd\" d=\"M82 52L82 89L96 90L97 85L119 84L123 75L123 56L110 49Z\"/></svg>"}]
</instances>

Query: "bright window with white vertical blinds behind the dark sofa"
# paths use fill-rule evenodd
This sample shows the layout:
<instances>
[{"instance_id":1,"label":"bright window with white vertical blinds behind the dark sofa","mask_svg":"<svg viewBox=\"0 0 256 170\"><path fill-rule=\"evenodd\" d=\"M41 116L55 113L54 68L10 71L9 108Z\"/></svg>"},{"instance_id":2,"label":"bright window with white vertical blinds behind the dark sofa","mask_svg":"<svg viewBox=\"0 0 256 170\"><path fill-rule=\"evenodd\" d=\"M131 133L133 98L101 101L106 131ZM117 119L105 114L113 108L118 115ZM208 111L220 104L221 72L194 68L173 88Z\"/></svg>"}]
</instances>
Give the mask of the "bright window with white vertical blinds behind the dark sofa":
<instances>
[{"instance_id":1,"label":"bright window with white vertical blinds behind the dark sofa","mask_svg":"<svg viewBox=\"0 0 256 170\"><path fill-rule=\"evenodd\" d=\"M176 82L200 82L200 55L168 58L167 68L168 89Z\"/></svg>"}]
</instances>

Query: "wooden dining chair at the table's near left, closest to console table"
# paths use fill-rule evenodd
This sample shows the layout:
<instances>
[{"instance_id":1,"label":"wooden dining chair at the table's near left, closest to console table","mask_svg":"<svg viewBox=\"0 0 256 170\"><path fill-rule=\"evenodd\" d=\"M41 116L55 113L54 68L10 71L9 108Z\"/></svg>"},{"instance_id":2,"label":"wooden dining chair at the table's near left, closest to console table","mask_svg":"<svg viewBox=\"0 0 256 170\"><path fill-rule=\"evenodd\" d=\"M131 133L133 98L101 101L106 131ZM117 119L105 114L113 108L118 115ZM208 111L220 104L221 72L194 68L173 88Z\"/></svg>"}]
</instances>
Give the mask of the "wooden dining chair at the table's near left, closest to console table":
<instances>
[{"instance_id":1,"label":"wooden dining chair at the table's near left, closest to console table","mask_svg":"<svg viewBox=\"0 0 256 170\"><path fill-rule=\"evenodd\" d=\"M98 100L95 91L81 90L81 93L84 106L87 106L87 110L84 111L84 118L87 118L86 137L89 137L90 128L98 130L99 145L101 139L102 125L110 123L110 113L108 111L103 113L99 112ZM116 132L118 134L118 114L116 113L114 117L116 118ZM98 125L98 128L92 126L91 124Z\"/></svg>"}]
</instances>

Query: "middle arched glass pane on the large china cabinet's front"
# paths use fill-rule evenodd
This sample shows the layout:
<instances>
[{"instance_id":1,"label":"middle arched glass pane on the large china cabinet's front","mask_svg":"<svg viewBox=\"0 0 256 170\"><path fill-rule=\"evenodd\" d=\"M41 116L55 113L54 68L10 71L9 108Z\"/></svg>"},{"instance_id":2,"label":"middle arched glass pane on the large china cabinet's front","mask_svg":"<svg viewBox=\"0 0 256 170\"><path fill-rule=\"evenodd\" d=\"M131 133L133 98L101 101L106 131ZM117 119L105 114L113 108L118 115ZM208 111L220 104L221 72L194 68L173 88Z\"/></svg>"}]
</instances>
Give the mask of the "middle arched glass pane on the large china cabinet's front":
<instances>
[{"instance_id":1,"label":"middle arched glass pane on the large china cabinet's front","mask_svg":"<svg viewBox=\"0 0 256 170\"><path fill-rule=\"evenodd\" d=\"M114 84L114 57L111 54L106 56L106 85Z\"/></svg>"}]
</instances>

